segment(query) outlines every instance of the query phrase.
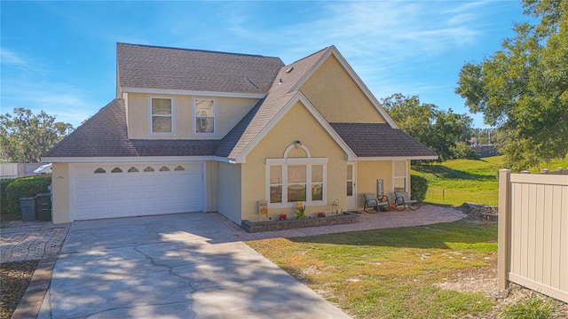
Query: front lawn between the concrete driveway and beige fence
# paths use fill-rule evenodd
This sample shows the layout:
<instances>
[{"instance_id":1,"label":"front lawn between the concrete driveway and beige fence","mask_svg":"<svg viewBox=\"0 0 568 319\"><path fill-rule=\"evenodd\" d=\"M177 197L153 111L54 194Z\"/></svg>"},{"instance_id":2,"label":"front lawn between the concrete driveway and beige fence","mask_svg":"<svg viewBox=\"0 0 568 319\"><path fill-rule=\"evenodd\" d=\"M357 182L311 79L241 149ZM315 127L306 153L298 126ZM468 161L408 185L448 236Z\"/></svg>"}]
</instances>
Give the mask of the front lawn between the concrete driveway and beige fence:
<instances>
[{"instance_id":1,"label":"front lawn between the concrete driveway and beige fence","mask_svg":"<svg viewBox=\"0 0 568 319\"><path fill-rule=\"evenodd\" d=\"M461 221L248 245L357 318L453 318L487 314L493 301L435 284L492 267L496 237L494 224Z\"/></svg>"}]
</instances>

